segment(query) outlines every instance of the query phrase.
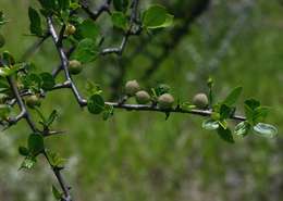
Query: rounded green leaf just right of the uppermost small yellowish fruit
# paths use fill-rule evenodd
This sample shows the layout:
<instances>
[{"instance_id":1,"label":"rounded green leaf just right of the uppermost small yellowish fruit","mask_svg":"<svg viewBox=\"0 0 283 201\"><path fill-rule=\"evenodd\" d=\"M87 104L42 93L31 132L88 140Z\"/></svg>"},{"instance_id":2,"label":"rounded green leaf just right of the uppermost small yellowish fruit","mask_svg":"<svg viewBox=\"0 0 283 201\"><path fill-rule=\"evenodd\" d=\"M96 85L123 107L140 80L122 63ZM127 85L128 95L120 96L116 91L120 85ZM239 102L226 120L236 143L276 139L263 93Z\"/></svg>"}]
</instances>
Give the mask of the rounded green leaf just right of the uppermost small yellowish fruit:
<instances>
[{"instance_id":1,"label":"rounded green leaf just right of the uppermost small yellowish fruit","mask_svg":"<svg viewBox=\"0 0 283 201\"><path fill-rule=\"evenodd\" d=\"M87 18L78 25L78 34L82 38L90 38L94 41L97 41L99 27L94 23L94 21Z\"/></svg>"}]
</instances>

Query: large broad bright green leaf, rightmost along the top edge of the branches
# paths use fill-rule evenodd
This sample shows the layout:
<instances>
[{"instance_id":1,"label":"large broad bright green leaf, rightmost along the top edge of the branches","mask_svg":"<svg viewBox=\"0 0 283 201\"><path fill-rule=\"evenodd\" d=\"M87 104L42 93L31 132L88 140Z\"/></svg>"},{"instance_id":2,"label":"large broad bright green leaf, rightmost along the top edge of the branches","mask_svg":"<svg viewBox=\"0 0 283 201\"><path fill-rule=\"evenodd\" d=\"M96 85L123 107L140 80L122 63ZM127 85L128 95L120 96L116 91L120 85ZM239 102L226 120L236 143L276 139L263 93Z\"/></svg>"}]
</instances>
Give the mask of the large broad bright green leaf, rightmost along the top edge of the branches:
<instances>
[{"instance_id":1,"label":"large broad bright green leaf, rightmost along the top edge of the branches","mask_svg":"<svg viewBox=\"0 0 283 201\"><path fill-rule=\"evenodd\" d=\"M148 29L168 27L173 23L173 15L162 5L151 5L144 12L143 25Z\"/></svg>"}]
</instances>

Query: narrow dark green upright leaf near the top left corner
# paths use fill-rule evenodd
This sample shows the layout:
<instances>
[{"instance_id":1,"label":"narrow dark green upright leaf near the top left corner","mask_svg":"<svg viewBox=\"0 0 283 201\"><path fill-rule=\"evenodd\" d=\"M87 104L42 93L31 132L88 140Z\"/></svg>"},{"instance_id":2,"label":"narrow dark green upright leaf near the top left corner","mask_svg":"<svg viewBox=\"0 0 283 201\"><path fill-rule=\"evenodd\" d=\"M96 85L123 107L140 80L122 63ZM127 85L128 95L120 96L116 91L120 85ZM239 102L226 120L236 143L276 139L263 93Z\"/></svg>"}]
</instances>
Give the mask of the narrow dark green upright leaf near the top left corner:
<instances>
[{"instance_id":1,"label":"narrow dark green upright leaf near the top left corner","mask_svg":"<svg viewBox=\"0 0 283 201\"><path fill-rule=\"evenodd\" d=\"M41 20L38 12L32 7L28 8L28 16L30 21L29 30L36 36L42 36Z\"/></svg>"}]
</instances>

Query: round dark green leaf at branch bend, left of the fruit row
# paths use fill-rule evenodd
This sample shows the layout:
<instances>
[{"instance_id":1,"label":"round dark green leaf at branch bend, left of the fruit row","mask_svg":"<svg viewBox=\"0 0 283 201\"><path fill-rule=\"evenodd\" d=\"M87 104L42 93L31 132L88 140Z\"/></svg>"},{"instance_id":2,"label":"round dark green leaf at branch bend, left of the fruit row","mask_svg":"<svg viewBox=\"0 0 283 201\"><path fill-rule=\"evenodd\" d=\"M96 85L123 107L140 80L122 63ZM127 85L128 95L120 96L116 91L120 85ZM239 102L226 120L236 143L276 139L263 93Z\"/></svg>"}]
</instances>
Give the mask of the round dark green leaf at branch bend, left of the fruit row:
<instances>
[{"instance_id":1,"label":"round dark green leaf at branch bend, left of the fruit row","mask_svg":"<svg viewBox=\"0 0 283 201\"><path fill-rule=\"evenodd\" d=\"M93 95L87 101L87 109L91 114L100 114L104 110L104 100L100 95Z\"/></svg>"}]
</instances>

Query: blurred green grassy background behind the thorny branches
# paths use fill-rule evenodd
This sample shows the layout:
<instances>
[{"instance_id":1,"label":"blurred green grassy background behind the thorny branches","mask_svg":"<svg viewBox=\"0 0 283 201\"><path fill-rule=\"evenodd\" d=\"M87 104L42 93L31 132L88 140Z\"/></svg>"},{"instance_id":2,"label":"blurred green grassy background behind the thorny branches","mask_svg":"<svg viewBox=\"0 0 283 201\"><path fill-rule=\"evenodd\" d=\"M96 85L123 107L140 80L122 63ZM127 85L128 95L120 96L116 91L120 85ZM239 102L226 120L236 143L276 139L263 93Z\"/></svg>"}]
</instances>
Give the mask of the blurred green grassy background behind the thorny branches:
<instances>
[{"instance_id":1,"label":"blurred green grassy background behind the thorny branches","mask_svg":"<svg viewBox=\"0 0 283 201\"><path fill-rule=\"evenodd\" d=\"M36 40L26 36L27 8L34 2L0 0L0 10L10 21L1 28L7 38L1 51L7 49L17 59ZM202 118L192 115L174 114L165 121L163 114L115 111L113 118L103 122L82 111L69 91L56 91L42 108L46 112L57 109L60 118L54 127L67 133L48 139L48 146L67 159L63 173L74 200L283 200L282 2L212 0L206 5L206 0L145 0L142 8L152 2L165 4L176 16L175 25L151 36L133 37L123 58L99 58L86 66L76 77L81 90L85 91L89 79L100 84L110 100L125 80L135 78L145 88L169 84L175 97L189 101L195 92L206 91L211 75L220 99L241 85L241 101L255 97L272 106L267 122L278 126L279 135L274 139L249 135L227 145L214 133L202 130ZM194 13L196 7L199 13ZM119 43L121 33L111 28L107 15L98 24L103 27L106 45ZM29 61L38 71L57 66L51 40ZM25 145L29 133L20 123L0 134L0 200L53 200L56 180L44 159L33 171L17 171L22 162L17 147Z\"/></svg>"}]
</instances>

